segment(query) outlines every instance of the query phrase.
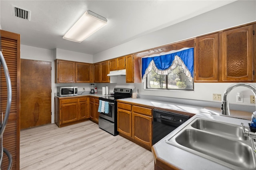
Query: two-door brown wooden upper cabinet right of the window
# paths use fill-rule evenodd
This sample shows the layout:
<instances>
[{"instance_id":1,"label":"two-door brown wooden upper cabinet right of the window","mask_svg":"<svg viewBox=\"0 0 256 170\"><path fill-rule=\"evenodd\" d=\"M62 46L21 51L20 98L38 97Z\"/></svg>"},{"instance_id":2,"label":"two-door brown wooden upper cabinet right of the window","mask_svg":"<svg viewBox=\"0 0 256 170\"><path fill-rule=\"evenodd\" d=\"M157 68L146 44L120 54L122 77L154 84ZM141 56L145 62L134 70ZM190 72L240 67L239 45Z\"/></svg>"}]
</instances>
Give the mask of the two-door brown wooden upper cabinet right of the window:
<instances>
[{"instance_id":1,"label":"two-door brown wooden upper cabinet right of the window","mask_svg":"<svg viewBox=\"0 0 256 170\"><path fill-rule=\"evenodd\" d=\"M248 25L196 38L195 82L254 81L254 36Z\"/></svg>"}]
</instances>

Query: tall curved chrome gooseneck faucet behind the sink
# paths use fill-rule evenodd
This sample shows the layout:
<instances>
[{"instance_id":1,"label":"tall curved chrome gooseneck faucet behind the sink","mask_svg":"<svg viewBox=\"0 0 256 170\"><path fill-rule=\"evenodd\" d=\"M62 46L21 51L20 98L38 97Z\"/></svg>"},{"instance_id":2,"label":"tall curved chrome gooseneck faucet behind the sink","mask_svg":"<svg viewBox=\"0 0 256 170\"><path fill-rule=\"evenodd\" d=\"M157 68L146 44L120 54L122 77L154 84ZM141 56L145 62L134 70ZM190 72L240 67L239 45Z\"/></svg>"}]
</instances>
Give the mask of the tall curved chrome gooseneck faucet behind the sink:
<instances>
[{"instance_id":1,"label":"tall curved chrome gooseneck faucet behind the sink","mask_svg":"<svg viewBox=\"0 0 256 170\"><path fill-rule=\"evenodd\" d=\"M256 96L256 88L253 87L252 85L248 84L248 83L235 83L232 84L231 86L229 86L226 91L224 92L223 95L223 102L221 104L221 114L222 115L230 115L230 111L229 111L229 105L228 105L228 94L229 92L234 89L235 87L239 87L239 86L243 86L243 87L248 87L254 94L254 96Z\"/></svg>"}]
</instances>

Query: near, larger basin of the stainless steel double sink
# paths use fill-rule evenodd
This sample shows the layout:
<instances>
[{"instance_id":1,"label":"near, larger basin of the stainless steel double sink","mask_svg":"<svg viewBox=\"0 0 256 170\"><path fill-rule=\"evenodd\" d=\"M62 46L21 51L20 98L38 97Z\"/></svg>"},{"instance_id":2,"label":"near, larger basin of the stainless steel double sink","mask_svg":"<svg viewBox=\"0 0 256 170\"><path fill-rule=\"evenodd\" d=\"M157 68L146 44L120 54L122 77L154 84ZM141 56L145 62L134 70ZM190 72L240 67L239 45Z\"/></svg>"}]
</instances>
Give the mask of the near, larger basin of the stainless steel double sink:
<instances>
[{"instance_id":1,"label":"near, larger basin of the stainless steel double sink","mask_svg":"<svg viewBox=\"0 0 256 170\"><path fill-rule=\"evenodd\" d=\"M192 152L216 158L217 162L218 160L224 161L238 168L252 169L255 167L252 148L236 140L187 129L176 137L176 142L192 149Z\"/></svg>"}]
</instances>

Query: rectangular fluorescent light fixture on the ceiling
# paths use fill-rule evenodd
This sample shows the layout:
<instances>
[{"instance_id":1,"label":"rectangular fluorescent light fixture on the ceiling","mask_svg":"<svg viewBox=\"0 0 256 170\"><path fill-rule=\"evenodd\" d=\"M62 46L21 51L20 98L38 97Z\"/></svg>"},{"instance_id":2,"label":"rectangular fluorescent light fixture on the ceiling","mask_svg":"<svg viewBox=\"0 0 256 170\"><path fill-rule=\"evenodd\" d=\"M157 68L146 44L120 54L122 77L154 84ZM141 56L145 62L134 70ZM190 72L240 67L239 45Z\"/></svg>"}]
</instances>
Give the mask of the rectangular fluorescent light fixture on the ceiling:
<instances>
[{"instance_id":1,"label":"rectangular fluorescent light fixture on the ceiling","mask_svg":"<svg viewBox=\"0 0 256 170\"><path fill-rule=\"evenodd\" d=\"M63 36L73 42L82 42L94 32L108 24L108 20L92 11L86 11L81 18Z\"/></svg>"}]
</instances>

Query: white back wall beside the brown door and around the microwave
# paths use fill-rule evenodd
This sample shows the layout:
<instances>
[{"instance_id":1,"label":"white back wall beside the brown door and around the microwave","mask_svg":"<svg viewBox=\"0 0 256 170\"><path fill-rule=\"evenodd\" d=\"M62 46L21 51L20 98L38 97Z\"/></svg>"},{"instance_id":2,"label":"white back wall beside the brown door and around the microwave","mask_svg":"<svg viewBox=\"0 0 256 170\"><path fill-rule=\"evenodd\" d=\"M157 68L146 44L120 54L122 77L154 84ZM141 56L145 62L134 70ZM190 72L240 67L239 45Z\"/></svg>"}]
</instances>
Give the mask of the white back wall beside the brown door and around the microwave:
<instances>
[{"instance_id":1,"label":"white back wall beside the brown door and around the microwave","mask_svg":"<svg viewBox=\"0 0 256 170\"><path fill-rule=\"evenodd\" d=\"M92 63L92 55L77 53L74 51L67 51L58 49L58 55L56 56L56 49L43 49L38 47L32 47L28 45L20 45L20 58L32 59L39 61L52 62L52 123L54 123L54 93L57 93L58 86L78 86L78 91L90 91L90 83L55 83L55 65L54 59L67 59L72 61Z\"/></svg>"}]
</instances>

